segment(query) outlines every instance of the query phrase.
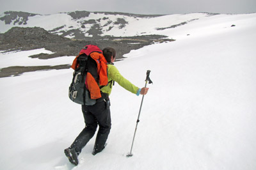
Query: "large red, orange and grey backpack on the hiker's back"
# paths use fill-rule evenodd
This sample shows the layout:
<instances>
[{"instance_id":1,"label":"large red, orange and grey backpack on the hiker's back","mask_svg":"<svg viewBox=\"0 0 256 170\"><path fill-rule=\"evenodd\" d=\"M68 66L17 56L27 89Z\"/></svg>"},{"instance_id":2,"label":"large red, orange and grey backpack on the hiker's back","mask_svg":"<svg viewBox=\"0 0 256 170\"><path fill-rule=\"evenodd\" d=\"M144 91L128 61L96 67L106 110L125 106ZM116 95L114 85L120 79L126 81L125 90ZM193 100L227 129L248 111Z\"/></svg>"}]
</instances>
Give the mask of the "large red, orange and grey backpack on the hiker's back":
<instances>
[{"instance_id":1,"label":"large red, orange and grey backpack on the hiker's back","mask_svg":"<svg viewBox=\"0 0 256 170\"><path fill-rule=\"evenodd\" d=\"M94 105L102 97L100 88L108 84L107 61L97 45L86 45L74 59L73 79L68 97L82 105Z\"/></svg>"}]
</instances>

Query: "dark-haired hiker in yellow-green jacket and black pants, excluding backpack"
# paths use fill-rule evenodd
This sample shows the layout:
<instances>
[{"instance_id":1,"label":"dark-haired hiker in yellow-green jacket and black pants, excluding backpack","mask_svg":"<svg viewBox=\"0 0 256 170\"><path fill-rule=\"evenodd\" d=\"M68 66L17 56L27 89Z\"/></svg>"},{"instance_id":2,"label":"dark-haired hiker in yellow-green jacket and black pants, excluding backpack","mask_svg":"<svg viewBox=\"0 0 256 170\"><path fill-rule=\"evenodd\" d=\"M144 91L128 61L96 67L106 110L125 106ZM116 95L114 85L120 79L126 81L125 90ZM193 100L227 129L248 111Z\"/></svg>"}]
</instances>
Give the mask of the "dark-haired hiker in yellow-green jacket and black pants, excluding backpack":
<instances>
[{"instance_id":1,"label":"dark-haired hiker in yellow-green jacket and black pants, excluding backpack","mask_svg":"<svg viewBox=\"0 0 256 170\"><path fill-rule=\"evenodd\" d=\"M118 82L120 86L131 91L136 95L146 95L148 88L138 88L131 82L125 79L117 68L113 65L115 62L116 51L111 47L107 47L102 50L103 56L108 62L108 84L100 89L102 95L101 98L97 99L94 105L82 105L82 111L84 116L84 123L86 127L76 137L74 143L65 150L65 154L72 164L77 165L77 156L81 153L83 147L92 139L93 135L99 125L95 145L93 148L93 155L96 155L105 148L106 141L111 128L111 116L110 116L110 101L109 95L113 88L114 82Z\"/></svg>"}]
</instances>

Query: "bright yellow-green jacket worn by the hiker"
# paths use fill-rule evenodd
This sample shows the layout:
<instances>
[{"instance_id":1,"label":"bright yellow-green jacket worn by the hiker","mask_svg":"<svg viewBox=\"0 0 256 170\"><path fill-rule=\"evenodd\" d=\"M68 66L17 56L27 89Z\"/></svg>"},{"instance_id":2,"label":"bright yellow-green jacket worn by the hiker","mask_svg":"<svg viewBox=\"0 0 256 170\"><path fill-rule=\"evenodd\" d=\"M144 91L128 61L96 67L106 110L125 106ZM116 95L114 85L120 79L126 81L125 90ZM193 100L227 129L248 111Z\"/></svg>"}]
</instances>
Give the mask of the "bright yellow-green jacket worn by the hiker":
<instances>
[{"instance_id":1,"label":"bright yellow-green jacket worn by the hiker","mask_svg":"<svg viewBox=\"0 0 256 170\"><path fill-rule=\"evenodd\" d=\"M108 65L108 82L109 81L112 82L109 83L108 86L104 86L100 89L103 93L108 93L108 95L111 93L113 81L117 82L120 86L127 89L128 91L131 91L131 93L136 94L140 90L140 88L134 86L134 84L125 79L117 70L117 68L111 64Z\"/></svg>"}]
</instances>

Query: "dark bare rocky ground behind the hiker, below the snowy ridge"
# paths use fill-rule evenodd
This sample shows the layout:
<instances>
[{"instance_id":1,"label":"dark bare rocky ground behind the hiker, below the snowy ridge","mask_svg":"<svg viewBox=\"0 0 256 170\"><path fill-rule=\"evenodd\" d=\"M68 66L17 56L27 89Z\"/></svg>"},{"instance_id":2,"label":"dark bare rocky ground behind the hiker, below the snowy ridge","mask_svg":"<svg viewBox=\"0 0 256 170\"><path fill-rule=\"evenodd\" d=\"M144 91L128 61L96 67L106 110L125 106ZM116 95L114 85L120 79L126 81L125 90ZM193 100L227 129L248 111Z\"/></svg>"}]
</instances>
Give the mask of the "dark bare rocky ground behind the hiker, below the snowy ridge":
<instances>
[{"instance_id":1,"label":"dark bare rocky ground behind the hiker, below the snowy ridge","mask_svg":"<svg viewBox=\"0 0 256 170\"><path fill-rule=\"evenodd\" d=\"M45 48L51 50L54 54L37 54L30 56L31 58L49 59L61 56L77 56L79 50L84 45L98 45L100 49L104 47L113 47L116 49L117 59L124 58L123 55L129 53L132 49L140 49L145 45L150 45L156 42L173 41L166 39L165 36L147 35L147 36L132 36L132 37L88 37L86 40L71 40L63 36L54 35L40 27L13 27L4 34L0 34L0 50L5 52L14 50L32 50ZM17 56L19 57L19 56ZM70 65L61 65L56 67L38 66L12 66L2 68L0 77L10 75L19 75L23 72L45 70L45 69L62 69L69 68Z\"/></svg>"}]
</instances>

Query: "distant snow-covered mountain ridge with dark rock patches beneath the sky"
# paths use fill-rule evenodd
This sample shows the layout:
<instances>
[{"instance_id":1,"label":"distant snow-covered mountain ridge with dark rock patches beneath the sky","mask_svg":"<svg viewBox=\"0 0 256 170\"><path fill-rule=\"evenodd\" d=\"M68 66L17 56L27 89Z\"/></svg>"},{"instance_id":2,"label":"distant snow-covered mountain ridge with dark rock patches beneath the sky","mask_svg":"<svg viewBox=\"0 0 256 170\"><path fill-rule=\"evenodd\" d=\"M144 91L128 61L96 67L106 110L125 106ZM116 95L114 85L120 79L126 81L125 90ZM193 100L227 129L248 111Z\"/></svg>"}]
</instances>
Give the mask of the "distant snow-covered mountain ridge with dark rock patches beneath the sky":
<instances>
[{"instance_id":1,"label":"distant snow-covered mountain ridge with dark rock patches beneath the sky","mask_svg":"<svg viewBox=\"0 0 256 170\"><path fill-rule=\"evenodd\" d=\"M0 15L0 33L11 27L42 27L50 33L76 39L84 39L85 36L161 35L163 30L212 15L134 15L85 11L39 15L5 12Z\"/></svg>"}]
</instances>

